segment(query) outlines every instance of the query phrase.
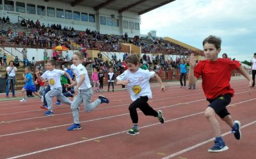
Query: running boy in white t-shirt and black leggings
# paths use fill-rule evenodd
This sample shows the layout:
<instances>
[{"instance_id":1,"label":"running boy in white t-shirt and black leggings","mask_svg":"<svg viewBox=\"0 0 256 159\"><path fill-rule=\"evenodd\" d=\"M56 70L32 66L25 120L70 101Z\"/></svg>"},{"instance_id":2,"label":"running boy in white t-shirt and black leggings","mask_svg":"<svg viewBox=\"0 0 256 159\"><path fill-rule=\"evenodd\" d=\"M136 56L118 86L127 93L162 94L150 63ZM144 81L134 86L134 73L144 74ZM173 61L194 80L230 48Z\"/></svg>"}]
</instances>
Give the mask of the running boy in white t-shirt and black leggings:
<instances>
[{"instance_id":1,"label":"running boy in white t-shirt and black leggings","mask_svg":"<svg viewBox=\"0 0 256 159\"><path fill-rule=\"evenodd\" d=\"M128 70L116 77L116 84L127 85L127 90L133 101L129 106L133 127L127 133L129 135L136 135L140 133L138 130L137 108L139 108L146 116L157 117L161 123L164 123L162 111L158 110L157 112L150 107L147 102L148 98L152 98L149 84L150 78L156 77L157 81L161 84L161 91L164 91L165 87L162 80L155 72L149 72L148 70L142 70L140 68L140 59L136 54L127 56L125 58L125 63L127 63Z\"/></svg>"}]
</instances>

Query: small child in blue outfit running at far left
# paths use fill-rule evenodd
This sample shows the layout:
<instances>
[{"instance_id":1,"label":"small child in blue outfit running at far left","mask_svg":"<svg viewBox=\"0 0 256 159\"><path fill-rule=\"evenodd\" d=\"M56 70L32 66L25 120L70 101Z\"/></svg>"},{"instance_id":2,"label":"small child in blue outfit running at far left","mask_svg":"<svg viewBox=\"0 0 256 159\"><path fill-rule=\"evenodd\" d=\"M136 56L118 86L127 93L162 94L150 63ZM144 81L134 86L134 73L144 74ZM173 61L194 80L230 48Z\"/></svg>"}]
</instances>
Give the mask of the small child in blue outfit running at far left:
<instances>
[{"instance_id":1,"label":"small child in blue outfit running at far left","mask_svg":"<svg viewBox=\"0 0 256 159\"><path fill-rule=\"evenodd\" d=\"M30 72L31 72L30 67L26 67L25 68L25 73L22 74L22 77L24 78L26 84L21 90L23 99L20 100L20 102L27 102L26 95L25 95L25 92L27 90L31 91L34 95L39 96L39 98L41 98L41 100L44 101L44 97L36 92L36 87L33 84L33 77L32 77Z\"/></svg>"}]
</instances>

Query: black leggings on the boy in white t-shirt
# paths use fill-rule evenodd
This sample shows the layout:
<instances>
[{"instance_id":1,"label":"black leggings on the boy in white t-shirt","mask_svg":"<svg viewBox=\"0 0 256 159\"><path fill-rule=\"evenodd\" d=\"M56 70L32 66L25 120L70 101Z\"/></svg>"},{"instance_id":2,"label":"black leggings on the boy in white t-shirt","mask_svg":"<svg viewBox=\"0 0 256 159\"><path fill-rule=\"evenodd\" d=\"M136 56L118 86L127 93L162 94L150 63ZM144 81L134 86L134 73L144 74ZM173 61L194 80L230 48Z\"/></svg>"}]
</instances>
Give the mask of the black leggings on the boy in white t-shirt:
<instances>
[{"instance_id":1,"label":"black leggings on the boy in white t-shirt","mask_svg":"<svg viewBox=\"0 0 256 159\"><path fill-rule=\"evenodd\" d=\"M145 116L154 116L157 117L158 112L152 107L148 105L148 97L147 96L140 96L137 100L131 103L129 106L130 116L132 119L132 123L137 124L138 123L138 113L137 108L139 108Z\"/></svg>"}]
</instances>

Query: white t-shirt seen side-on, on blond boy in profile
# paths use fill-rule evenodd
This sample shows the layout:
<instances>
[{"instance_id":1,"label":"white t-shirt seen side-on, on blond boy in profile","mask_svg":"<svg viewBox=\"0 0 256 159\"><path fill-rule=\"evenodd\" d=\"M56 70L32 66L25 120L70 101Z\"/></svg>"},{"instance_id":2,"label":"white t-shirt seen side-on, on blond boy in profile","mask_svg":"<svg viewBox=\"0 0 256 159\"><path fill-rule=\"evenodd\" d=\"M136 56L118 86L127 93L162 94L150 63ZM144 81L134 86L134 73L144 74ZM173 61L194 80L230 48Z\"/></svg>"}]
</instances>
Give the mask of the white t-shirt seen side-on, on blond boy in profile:
<instances>
[{"instance_id":1,"label":"white t-shirt seen side-on, on blond boy in profile","mask_svg":"<svg viewBox=\"0 0 256 159\"><path fill-rule=\"evenodd\" d=\"M78 88L79 90L88 89L88 88L92 87L92 85L90 83L89 76L88 76L88 72L87 72L86 68L83 66L83 64L78 64L78 66L76 66L76 69L75 69L74 72L76 73L76 82L77 82L77 84L80 80L80 75L84 74L84 77L85 77L83 83Z\"/></svg>"}]
</instances>

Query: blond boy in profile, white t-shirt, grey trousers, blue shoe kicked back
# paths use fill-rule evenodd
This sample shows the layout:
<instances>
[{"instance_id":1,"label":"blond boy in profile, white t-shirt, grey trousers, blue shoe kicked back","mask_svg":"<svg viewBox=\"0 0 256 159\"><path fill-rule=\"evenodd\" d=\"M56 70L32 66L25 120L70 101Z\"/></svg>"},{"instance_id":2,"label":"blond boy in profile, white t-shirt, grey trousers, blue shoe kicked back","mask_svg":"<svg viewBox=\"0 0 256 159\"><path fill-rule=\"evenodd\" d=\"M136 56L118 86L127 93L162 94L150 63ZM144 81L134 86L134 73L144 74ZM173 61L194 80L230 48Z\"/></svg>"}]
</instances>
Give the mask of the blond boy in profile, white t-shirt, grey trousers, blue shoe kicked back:
<instances>
[{"instance_id":1,"label":"blond boy in profile, white t-shirt, grey trousers, blue shoe kicked back","mask_svg":"<svg viewBox=\"0 0 256 159\"><path fill-rule=\"evenodd\" d=\"M83 66L84 54L83 52L74 52L72 57L73 63L76 66L74 70L76 75L76 82L73 84L66 84L65 87L76 86L75 97L71 104L74 124L67 128L68 131L79 130L81 125L79 122L79 106L84 103L84 110L86 112L92 112L100 103L109 103L109 100L104 96L99 96L97 100L91 103L92 100L92 86L88 77L88 72Z\"/></svg>"}]
</instances>

